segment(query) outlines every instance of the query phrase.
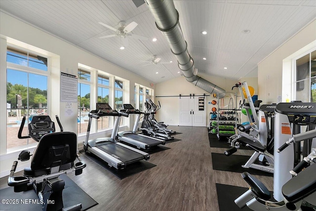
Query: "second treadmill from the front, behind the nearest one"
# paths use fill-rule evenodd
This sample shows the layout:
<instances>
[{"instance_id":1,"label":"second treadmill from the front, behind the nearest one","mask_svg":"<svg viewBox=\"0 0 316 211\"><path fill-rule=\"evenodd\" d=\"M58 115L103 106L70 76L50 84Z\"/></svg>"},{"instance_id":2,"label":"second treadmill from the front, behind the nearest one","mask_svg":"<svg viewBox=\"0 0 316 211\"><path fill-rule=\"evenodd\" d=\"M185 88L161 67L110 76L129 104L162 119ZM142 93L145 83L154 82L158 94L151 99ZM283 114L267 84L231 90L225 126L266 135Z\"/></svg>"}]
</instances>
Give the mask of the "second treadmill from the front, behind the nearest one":
<instances>
[{"instance_id":1,"label":"second treadmill from the front, behind the nearest one","mask_svg":"<svg viewBox=\"0 0 316 211\"><path fill-rule=\"evenodd\" d=\"M136 119L132 131L118 132L117 139L125 143L136 146L138 149L151 149L159 144L164 145L166 142L164 140L149 137L147 135L137 134L137 127L140 119L140 115L143 113L138 109L135 109L131 104L123 104L122 110L127 114L136 114Z\"/></svg>"}]
</instances>

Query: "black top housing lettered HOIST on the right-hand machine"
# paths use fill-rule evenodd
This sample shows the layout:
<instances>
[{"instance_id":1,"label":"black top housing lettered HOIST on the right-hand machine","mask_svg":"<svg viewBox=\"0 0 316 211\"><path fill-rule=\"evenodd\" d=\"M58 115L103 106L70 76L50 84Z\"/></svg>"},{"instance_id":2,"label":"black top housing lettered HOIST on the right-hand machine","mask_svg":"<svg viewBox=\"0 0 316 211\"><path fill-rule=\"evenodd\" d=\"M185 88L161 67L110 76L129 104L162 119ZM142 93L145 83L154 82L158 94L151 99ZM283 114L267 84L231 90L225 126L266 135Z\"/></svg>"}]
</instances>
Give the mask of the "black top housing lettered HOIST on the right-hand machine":
<instances>
[{"instance_id":1,"label":"black top housing lettered HOIST on the right-hand machine","mask_svg":"<svg viewBox=\"0 0 316 211\"><path fill-rule=\"evenodd\" d=\"M316 103L279 103L276 112L285 114L290 123L297 125L316 124Z\"/></svg>"}]
</instances>

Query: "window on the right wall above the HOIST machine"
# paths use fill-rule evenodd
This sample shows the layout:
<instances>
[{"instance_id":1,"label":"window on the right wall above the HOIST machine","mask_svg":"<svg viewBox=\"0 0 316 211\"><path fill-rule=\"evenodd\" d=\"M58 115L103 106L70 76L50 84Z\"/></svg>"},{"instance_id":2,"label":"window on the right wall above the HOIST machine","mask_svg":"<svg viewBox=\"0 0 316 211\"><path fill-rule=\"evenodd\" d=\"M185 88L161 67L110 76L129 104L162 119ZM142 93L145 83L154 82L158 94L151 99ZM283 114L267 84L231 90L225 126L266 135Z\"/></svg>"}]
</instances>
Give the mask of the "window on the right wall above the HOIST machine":
<instances>
[{"instance_id":1,"label":"window on the right wall above the HOIST machine","mask_svg":"<svg viewBox=\"0 0 316 211\"><path fill-rule=\"evenodd\" d=\"M316 50L295 60L295 100L316 102Z\"/></svg>"}]
</instances>

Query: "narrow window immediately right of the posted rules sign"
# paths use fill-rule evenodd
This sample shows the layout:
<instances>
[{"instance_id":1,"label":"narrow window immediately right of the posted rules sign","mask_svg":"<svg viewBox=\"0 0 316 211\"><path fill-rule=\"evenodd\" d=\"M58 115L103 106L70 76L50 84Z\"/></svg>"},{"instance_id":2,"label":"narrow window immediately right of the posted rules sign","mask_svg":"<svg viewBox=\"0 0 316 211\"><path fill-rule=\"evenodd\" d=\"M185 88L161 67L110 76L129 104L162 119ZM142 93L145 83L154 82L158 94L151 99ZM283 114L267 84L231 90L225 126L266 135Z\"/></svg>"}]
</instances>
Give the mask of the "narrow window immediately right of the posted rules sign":
<instances>
[{"instance_id":1,"label":"narrow window immediately right of the posted rules sign","mask_svg":"<svg viewBox=\"0 0 316 211\"><path fill-rule=\"evenodd\" d=\"M88 128L91 94L91 74L88 70L78 69L78 133Z\"/></svg>"}]
</instances>

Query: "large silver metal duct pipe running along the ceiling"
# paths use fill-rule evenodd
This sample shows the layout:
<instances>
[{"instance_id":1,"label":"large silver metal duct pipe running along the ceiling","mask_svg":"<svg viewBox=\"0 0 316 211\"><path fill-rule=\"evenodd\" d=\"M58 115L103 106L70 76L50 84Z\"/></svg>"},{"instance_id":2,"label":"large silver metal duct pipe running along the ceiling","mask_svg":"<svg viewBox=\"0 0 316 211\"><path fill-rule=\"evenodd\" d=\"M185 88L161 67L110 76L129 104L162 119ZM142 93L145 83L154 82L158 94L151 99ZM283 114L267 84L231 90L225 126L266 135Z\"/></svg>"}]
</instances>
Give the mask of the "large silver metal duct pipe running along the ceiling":
<instances>
[{"instance_id":1,"label":"large silver metal duct pipe running along the ceiling","mask_svg":"<svg viewBox=\"0 0 316 211\"><path fill-rule=\"evenodd\" d=\"M178 66L186 80L211 94L221 93L219 98L223 98L226 95L225 89L194 75L194 60L188 52L187 42L184 40L179 23L179 13L174 7L173 0L146 0L146 2L155 18L157 28L177 57Z\"/></svg>"}]
</instances>

